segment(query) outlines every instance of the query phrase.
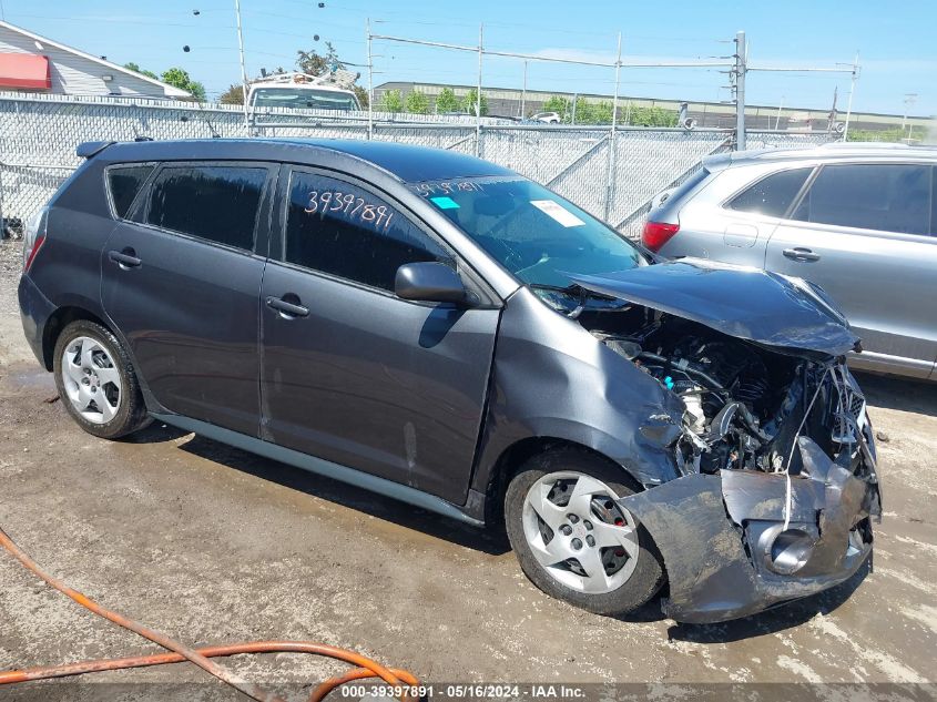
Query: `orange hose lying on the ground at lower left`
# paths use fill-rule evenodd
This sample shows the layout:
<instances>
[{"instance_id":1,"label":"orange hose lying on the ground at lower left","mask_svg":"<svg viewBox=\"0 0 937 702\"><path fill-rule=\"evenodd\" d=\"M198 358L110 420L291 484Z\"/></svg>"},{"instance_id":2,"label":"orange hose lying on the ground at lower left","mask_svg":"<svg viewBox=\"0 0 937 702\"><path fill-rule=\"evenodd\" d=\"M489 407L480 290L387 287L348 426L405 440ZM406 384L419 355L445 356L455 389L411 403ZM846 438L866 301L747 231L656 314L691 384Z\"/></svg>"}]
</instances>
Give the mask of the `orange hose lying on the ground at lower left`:
<instances>
[{"instance_id":1,"label":"orange hose lying on the ground at lower left","mask_svg":"<svg viewBox=\"0 0 937 702\"><path fill-rule=\"evenodd\" d=\"M124 629L129 629L144 639L149 639L150 641L171 651L170 653L156 653L120 659L102 659L79 663L64 663L61 665L28 668L24 670L0 672L0 685L27 682L31 680L48 680L51 678L82 675L84 673L123 670L129 668L166 665L170 663L182 663L189 661L198 665L198 668L211 673L222 682L227 683L235 690L243 692L253 700L257 700L258 702L283 702L281 698L272 692L242 680L233 672L210 660L212 658L238 655L241 653L308 653L313 655L333 658L357 667L343 675L330 678L320 683L315 690L313 690L313 693L309 696L309 702L319 702L319 700L324 699L335 688L353 680L363 680L366 678L379 678L389 685L398 688L419 685L419 681L407 671L388 669L376 661L355 653L354 651L339 649L324 643L315 643L313 641L247 641L228 645L192 649L163 633L153 631L139 622L98 604L94 600L88 598L78 590L70 588L58 578L50 576L42 570L42 568L32 558L30 558L26 551L17 546L17 543L7 535L6 531L3 531L2 528L0 528L0 546L9 551L13 558L27 568L27 570L34 573L37 577L45 581L47 584L71 600L78 602L99 617L123 627ZM403 694L399 699L409 700L410 698Z\"/></svg>"}]
</instances>

